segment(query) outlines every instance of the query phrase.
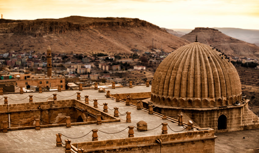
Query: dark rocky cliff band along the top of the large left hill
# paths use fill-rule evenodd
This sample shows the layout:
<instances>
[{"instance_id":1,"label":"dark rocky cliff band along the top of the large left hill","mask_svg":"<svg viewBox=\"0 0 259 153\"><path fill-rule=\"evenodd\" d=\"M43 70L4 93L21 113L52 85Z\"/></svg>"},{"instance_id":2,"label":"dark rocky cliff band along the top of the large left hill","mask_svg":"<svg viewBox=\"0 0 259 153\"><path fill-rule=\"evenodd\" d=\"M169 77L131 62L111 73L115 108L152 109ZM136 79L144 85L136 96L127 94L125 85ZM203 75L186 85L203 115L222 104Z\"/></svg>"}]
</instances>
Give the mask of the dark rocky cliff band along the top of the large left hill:
<instances>
[{"instance_id":1,"label":"dark rocky cliff band along the top of the large left hill","mask_svg":"<svg viewBox=\"0 0 259 153\"><path fill-rule=\"evenodd\" d=\"M90 19L90 20L89 20ZM95 19L95 20L93 20ZM71 16L61 19L37 19L32 21L23 20L1 20L2 27L5 27L7 33L26 34L35 37L48 35L48 34L63 34L68 31L88 30L94 27L146 27L156 28L158 26L151 24L147 21L131 18L89 18ZM13 24L11 27L5 25ZM5 24L5 25L4 25Z\"/></svg>"}]
</instances>

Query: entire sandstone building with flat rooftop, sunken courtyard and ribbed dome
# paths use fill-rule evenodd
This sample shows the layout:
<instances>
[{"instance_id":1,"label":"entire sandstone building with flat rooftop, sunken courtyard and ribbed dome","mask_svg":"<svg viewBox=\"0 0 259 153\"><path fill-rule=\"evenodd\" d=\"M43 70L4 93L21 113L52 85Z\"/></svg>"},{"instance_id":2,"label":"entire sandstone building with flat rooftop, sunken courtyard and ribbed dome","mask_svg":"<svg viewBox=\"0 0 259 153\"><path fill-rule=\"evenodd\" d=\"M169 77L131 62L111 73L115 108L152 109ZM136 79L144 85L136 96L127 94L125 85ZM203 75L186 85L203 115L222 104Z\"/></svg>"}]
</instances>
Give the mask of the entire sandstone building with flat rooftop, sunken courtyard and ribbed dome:
<instances>
[{"instance_id":1,"label":"entire sandstone building with flat rooftop, sunken courtyard and ribbed dome","mask_svg":"<svg viewBox=\"0 0 259 153\"><path fill-rule=\"evenodd\" d=\"M3 152L213 153L215 132L259 128L235 67L198 42L169 54L151 85L1 90Z\"/></svg>"}]
</instances>

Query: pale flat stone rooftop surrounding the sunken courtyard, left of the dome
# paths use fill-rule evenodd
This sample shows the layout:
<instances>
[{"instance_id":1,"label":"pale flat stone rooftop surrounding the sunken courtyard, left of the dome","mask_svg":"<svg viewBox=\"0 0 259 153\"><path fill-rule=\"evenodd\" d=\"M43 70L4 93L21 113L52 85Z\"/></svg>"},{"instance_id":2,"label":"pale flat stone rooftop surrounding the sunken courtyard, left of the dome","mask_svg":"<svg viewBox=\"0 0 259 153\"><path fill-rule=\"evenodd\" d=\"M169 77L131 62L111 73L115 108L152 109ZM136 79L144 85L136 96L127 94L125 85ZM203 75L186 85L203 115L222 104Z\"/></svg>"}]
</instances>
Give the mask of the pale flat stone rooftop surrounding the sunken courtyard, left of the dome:
<instances>
[{"instance_id":1,"label":"pale flat stone rooftop surrounding the sunken courtyard, left of the dome","mask_svg":"<svg viewBox=\"0 0 259 153\"><path fill-rule=\"evenodd\" d=\"M116 88L116 89L108 89L111 91L112 94L115 93L133 93L133 92L150 92L151 87L146 86L135 86L133 88ZM128 126L135 126L137 127L137 122L143 120L148 124L148 129L154 129L156 127L159 127L150 130L150 131L144 131L139 132L136 128L134 128L134 137L141 137L141 136L152 136L152 135L161 135L161 129L162 125L161 123L167 122L171 129L174 131L181 131L181 132L187 132L184 130L182 126L178 126L177 123L173 123L170 120L163 120L161 116L155 115L155 114L148 114L145 110L137 110L135 106L126 106L125 103L122 102L116 102L113 99L103 99L106 98L106 93L98 92L98 90L69 90L69 91L52 91L52 92L43 92L43 93L24 93L24 94L5 94L3 96L8 96L12 99L24 99L28 95L34 95L36 97L47 97L49 95L52 95L53 93L57 93L61 96L57 95L57 100L64 100L64 99L76 99L76 92L81 92L81 96L83 95L89 95L89 99L98 99L98 103L100 105L103 105L103 103L108 103L108 108L113 109L114 107L119 108L119 118L120 122L111 122L111 123L102 123L101 125L97 124L88 124L88 125L74 125L71 126L71 128L66 128L65 126L60 127L51 127L51 128L41 128L40 130L35 129L26 129L26 130L11 130L7 133L0 133L1 140L0 144L0 152L64 152L63 147L56 147L56 134L62 133L62 141L64 143L65 139L70 139L71 143L78 143L78 142L89 142L92 141L92 132L90 132L92 129L98 129L98 140L110 140L110 139L120 139L120 138L127 138L128 137L128 129L126 129ZM66 98L69 95L73 95L71 97ZM66 96L66 97L65 97ZM51 96L53 97L53 96ZM101 98L101 99L100 99ZM9 99L8 103L28 103L28 98L20 101L15 101ZM40 101L46 101L48 98L45 99L37 99L33 97L33 101L40 102ZM84 99L81 100L82 103L84 103ZM93 101L89 101L89 106L93 107ZM103 106L98 105L98 110L103 111ZM114 114L114 110L109 110L108 114L112 115ZM131 112L131 122L126 122L126 115L120 115L125 114L126 112ZM11 125L12 126L12 125ZM126 129L122 131L123 129ZM119 132L116 134L107 134L103 132ZM84 136L90 132L87 136ZM173 132L168 128L168 134L170 133L176 133ZM67 138L65 136L76 138L81 137L78 139L71 139ZM22 146L22 147L21 147Z\"/></svg>"}]
</instances>

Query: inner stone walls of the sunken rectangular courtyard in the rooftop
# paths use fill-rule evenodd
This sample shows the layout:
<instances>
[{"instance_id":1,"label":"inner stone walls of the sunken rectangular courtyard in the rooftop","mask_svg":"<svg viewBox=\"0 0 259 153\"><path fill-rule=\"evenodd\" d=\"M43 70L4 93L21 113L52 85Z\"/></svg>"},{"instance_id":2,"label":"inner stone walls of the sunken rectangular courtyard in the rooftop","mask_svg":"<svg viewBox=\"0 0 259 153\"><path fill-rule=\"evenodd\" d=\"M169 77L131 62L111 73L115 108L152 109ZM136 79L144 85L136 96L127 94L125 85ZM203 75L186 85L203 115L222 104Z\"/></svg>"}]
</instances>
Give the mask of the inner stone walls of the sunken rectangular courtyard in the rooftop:
<instances>
[{"instance_id":1,"label":"inner stone walls of the sunken rectangular courtyard in the rooftop","mask_svg":"<svg viewBox=\"0 0 259 153\"><path fill-rule=\"evenodd\" d=\"M40 125L64 124L66 123L64 118L67 116L71 117L71 123L77 122L79 116L85 119L83 122L96 121L96 114L101 114L101 119L106 122L120 121L75 99L9 104L9 111L7 104L0 105L0 128L2 128L2 121L9 121L8 114L10 114L10 123L13 123L11 128L34 126L34 119L41 119Z\"/></svg>"}]
</instances>

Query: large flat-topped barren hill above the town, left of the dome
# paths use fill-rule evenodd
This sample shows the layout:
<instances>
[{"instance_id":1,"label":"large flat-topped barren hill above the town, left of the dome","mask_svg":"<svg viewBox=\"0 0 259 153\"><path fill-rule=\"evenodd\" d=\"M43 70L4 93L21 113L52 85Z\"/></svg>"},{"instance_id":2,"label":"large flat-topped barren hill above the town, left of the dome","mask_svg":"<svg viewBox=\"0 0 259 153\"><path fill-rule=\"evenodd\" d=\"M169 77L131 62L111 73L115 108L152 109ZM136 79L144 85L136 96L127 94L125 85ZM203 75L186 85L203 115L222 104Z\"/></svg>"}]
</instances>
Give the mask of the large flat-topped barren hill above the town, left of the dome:
<instances>
[{"instance_id":1,"label":"large flat-topped barren hill above the town, left of the dome","mask_svg":"<svg viewBox=\"0 0 259 153\"><path fill-rule=\"evenodd\" d=\"M94 18L71 16L60 19L0 19L0 52L132 53L154 47L175 50L189 42L158 26L137 18Z\"/></svg>"}]
</instances>

